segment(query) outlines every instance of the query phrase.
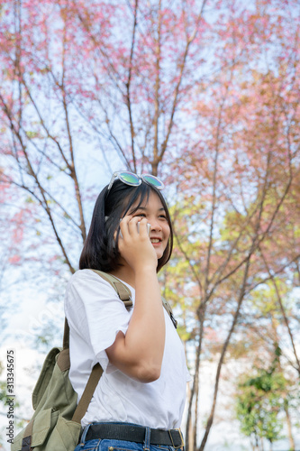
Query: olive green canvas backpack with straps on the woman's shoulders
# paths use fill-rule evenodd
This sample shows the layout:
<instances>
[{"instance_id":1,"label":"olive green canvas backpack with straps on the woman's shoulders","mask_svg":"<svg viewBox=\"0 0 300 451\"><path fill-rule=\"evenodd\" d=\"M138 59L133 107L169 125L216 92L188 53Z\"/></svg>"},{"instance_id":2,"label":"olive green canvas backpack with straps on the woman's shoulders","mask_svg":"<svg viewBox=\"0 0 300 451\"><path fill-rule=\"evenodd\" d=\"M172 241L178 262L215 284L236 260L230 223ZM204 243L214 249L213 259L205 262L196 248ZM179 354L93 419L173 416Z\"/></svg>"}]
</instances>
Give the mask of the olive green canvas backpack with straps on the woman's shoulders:
<instances>
[{"instance_id":1,"label":"olive green canvas backpack with straps on the woman's shoulders","mask_svg":"<svg viewBox=\"0 0 300 451\"><path fill-rule=\"evenodd\" d=\"M113 286L126 308L132 307L132 293L122 281L111 274L92 271ZM176 327L172 310L164 299L163 305ZM52 348L42 365L32 392L34 414L26 428L14 437L11 451L74 451L82 430L81 419L86 414L103 369L100 364L95 364L77 405L77 393L68 378L69 368L69 327L65 318L63 346Z\"/></svg>"}]
</instances>

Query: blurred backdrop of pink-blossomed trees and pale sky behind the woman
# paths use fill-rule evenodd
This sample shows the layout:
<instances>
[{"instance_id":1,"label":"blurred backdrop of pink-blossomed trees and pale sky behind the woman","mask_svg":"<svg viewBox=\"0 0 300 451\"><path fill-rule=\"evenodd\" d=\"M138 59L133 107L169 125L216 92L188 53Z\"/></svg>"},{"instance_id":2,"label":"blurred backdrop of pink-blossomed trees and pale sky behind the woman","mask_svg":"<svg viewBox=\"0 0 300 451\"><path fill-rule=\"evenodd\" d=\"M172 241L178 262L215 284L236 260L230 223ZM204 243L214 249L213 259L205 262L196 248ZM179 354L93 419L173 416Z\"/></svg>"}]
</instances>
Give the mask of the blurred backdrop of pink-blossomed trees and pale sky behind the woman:
<instances>
[{"instance_id":1,"label":"blurred backdrop of pink-blossomed trees and pale sky behind the woman","mask_svg":"<svg viewBox=\"0 0 300 451\"><path fill-rule=\"evenodd\" d=\"M275 427L241 422L246 449L277 446L281 429L281 446L299 440L299 9L0 1L4 343L41 359L59 344L97 193L114 170L159 175L176 230L160 281L193 375L189 451L232 444L222 421L239 430L236 402L262 374L286 402L270 411L264 391Z\"/></svg>"}]
</instances>

